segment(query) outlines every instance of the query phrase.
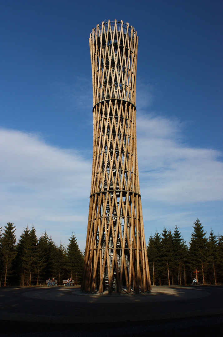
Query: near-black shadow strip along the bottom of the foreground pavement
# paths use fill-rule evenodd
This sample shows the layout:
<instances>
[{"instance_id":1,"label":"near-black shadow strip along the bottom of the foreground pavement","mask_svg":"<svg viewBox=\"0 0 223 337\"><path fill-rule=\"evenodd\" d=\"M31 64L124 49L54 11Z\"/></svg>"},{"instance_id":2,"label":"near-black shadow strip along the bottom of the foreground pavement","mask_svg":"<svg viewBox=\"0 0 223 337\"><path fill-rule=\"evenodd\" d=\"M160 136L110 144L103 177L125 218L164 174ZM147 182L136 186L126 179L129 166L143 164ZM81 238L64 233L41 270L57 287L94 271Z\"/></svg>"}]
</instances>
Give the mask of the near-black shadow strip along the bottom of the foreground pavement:
<instances>
[{"instance_id":1,"label":"near-black shadow strip along the bottom of the foreground pavement","mask_svg":"<svg viewBox=\"0 0 223 337\"><path fill-rule=\"evenodd\" d=\"M172 337L174 335L182 337L194 335L222 337L223 315L189 319L165 319L152 322L111 322L107 324L48 324L1 320L0 326L1 337Z\"/></svg>"}]
</instances>

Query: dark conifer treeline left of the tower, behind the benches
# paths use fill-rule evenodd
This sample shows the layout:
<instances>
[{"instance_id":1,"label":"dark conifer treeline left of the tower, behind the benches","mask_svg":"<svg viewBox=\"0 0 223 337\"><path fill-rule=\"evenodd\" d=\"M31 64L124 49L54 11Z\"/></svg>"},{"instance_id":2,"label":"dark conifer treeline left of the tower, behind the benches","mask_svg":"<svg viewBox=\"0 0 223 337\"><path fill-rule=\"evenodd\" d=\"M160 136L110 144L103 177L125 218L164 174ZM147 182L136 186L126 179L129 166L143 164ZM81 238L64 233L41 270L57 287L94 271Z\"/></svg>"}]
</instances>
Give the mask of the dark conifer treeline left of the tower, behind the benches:
<instances>
[{"instance_id":1,"label":"dark conifer treeline left of the tower, behind the benches","mask_svg":"<svg viewBox=\"0 0 223 337\"><path fill-rule=\"evenodd\" d=\"M84 257L74 233L58 247L46 232L38 239L28 225L16 243L15 228L11 222L0 227L0 286L40 285L53 277L58 284L67 277L80 284Z\"/></svg>"}]
</instances>

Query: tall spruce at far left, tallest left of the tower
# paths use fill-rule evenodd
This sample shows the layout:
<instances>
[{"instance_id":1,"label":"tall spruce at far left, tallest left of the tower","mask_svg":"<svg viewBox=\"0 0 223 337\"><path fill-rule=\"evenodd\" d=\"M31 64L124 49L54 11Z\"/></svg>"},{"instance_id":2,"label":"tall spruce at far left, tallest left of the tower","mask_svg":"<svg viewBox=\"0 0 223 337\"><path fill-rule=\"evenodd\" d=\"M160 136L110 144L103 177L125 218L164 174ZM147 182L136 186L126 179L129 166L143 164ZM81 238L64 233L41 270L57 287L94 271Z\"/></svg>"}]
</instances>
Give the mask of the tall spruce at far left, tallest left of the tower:
<instances>
[{"instance_id":1,"label":"tall spruce at far left, tallest left of the tower","mask_svg":"<svg viewBox=\"0 0 223 337\"><path fill-rule=\"evenodd\" d=\"M9 284L8 276L10 275L13 259L16 257L16 235L15 228L12 222L7 222L3 235L0 239L1 251L2 251L2 269L4 277L4 286ZM8 280L8 282L7 282Z\"/></svg>"}]
</instances>

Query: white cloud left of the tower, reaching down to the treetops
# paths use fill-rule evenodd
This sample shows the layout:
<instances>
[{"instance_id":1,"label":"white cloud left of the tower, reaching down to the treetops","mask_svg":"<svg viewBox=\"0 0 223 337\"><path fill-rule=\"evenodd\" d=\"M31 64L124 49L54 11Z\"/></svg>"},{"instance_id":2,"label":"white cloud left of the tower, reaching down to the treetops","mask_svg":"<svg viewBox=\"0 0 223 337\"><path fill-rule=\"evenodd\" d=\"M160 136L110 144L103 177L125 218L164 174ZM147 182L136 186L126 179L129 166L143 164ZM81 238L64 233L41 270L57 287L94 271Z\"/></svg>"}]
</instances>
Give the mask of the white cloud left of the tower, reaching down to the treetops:
<instances>
[{"instance_id":1,"label":"white cloud left of the tower, reaching down to the treetops","mask_svg":"<svg viewBox=\"0 0 223 337\"><path fill-rule=\"evenodd\" d=\"M0 130L0 158L2 224L14 222L20 233L27 222L33 223L38 235L47 229L57 243L67 242L72 231L82 236L90 160L77 151L50 146L35 134L5 129Z\"/></svg>"}]
</instances>

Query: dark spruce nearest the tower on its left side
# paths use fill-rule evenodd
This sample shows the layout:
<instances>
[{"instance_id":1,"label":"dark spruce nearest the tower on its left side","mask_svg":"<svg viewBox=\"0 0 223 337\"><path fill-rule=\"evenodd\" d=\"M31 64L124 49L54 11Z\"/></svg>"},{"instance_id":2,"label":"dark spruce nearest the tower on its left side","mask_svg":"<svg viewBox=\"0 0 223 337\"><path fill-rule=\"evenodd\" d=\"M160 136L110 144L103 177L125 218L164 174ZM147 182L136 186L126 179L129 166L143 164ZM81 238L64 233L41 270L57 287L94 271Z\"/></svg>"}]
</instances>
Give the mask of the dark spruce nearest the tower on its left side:
<instances>
[{"instance_id":1,"label":"dark spruce nearest the tower on its left side","mask_svg":"<svg viewBox=\"0 0 223 337\"><path fill-rule=\"evenodd\" d=\"M84 257L77 244L74 232L67 246L68 271L71 279L74 279L75 284L81 281L83 271Z\"/></svg>"}]
</instances>

